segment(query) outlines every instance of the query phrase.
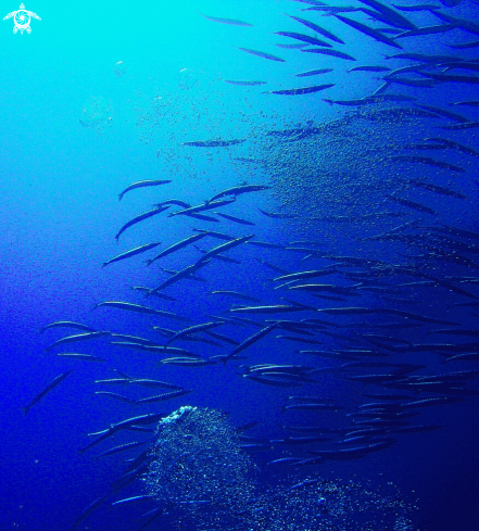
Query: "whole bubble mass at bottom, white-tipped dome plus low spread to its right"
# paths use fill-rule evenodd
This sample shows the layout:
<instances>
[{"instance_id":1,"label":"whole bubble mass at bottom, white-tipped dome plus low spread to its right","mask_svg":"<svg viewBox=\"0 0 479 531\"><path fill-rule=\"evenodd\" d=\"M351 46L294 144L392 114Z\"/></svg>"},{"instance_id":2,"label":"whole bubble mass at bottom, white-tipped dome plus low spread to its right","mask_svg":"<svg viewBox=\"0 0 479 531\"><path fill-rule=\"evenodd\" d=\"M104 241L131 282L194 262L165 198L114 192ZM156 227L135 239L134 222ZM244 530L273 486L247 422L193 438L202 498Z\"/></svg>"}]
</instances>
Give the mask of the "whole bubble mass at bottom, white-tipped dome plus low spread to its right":
<instances>
[{"instance_id":1,"label":"whole bubble mass at bottom, white-tipped dome plus low spread to its right","mask_svg":"<svg viewBox=\"0 0 479 531\"><path fill-rule=\"evenodd\" d=\"M178 529L413 531L412 507L381 489L319 476L260 482L237 432L215 409L185 406L164 418L151 448L148 494Z\"/></svg>"}]
</instances>

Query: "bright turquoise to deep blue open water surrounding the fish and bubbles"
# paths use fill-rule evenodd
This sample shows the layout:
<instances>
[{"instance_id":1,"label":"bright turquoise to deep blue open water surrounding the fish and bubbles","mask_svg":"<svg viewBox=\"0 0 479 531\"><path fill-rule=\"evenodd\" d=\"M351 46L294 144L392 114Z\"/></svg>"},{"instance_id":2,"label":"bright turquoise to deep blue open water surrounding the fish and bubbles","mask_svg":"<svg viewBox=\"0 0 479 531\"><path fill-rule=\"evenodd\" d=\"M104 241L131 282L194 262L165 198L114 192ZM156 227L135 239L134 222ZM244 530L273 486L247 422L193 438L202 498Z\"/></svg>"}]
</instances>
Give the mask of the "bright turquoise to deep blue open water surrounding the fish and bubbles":
<instances>
[{"instance_id":1,"label":"bright turquoise to deep blue open water surrounding the fish and bubbles","mask_svg":"<svg viewBox=\"0 0 479 531\"><path fill-rule=\"evenodd\" d=\"M352 3L360 5L356 1ZM439 2L434 3L439 5ZM408 3L401 1L401 4ZM202 228L235 237L254 233L256 240L282 244L294 240L323 241L332 255L367 256L391 264L404 264L406 261L409 266L436 277L470 276L477 280L474 267L432 258L429 263L420 258L415 262L412 255L419 253L417 246L362 240L414 219L423 219L423 227L443 223L477 231L477 157L457 150L415 152L465 168L464 173L451 173L420 164L391 163L388 160L391 153L382 152L382 147L390 146L390 142L404 146L417 143L426 137L446 138L479 150L477 128L440 129L439 125L453 124L444 117L383 123L357 118L341 126L343 131L348 131L342 136L335 131L305 139L267 135L275 130L304 128L310 121L313 127L319 127L343 118L348 113L354 114L354 108L329 105L323 98L363 98L370 96L383 81L377 79L381 73L348 73L348 68L360 64L383 64L394 68L411 64L386 60L386 54L402 50L379 43L333 17L322 17L322 13L314 11L301 12L307 7L286 0L185 0L178 4L102 2L101 5L93 2L33 2L30 5L28 2L26 9L41 17L41 21L31 20L30 34L15 35L12 33L12 18L2 22L0 352L3 415L0 529L71 529L85 507L109 492L111 482L122 475L124 459L134 457L136 451L101 459L96 459L94 455L117 444L151 438L151 434L137 437L134 432L119 432L112 444L100 443L80 455L78 450L91 441L86 434L130 416L159 410L171 413L185 404L207 406L229 413L235 426L259 420L261 423L252 434L277 439L285 437L279 428L286 422L285 418L289 423L341 427L346 422L345 414L368 402L361 396L361 383L344 381L331 374L319 376L319 384L283 389L238 376L242 372L241 364L330 366L328 359L295 357L298 344L275 338L280 333L290 334L282 330L254 344L244 353L247 359L228 362L226 367L223 364L200 368L166 366L160 364L156 354L115 347L103 339L74 343L63 352L94 354L105 358L105 364L61 359L55 356L62 352L60 349L47 352L48 345L71 332L71 329L59 328L47 330L41 336L38 333L42 327L56 320L74 320L97 330L141 336L159 342L163 340L151 330L151 326L175 330L182 327L181 323L149 315L114 308L92 309L102 301L144 304L185 315L192 324L199 324L210 320L205 314L230 316L228 309L232 304L241 303L212 295L214 290L240 291L262 299L264 304L285 303L280 298L288 298L290 293L273 290L276 283L272 278L279 274L260 261L270 262L290 273L322 268L331 263L313 257L303 264L301 258L304 255L301 253L242 245L228 253L241 264L209 264L199 271L207 282L181 281L165 291L177 299L168 302L144 299L131 290L131 286L153 288L165 280L167 276L160 269L160 264L147 268L147 255L143 255L101 267L116 254L152 241L161 241L159 249L163 250L191 236L193 228ZM3 3L4 14L16 9L15 3ZM443 8L443 12L474 21L475 17L477 20L478 8L464 0L455 8ZM357 61L353 63L276 47L275 43L297 41L274 35L275 31L314 35L285 13L315 21L341 36L345 45L335 45L335 48L354 55ZM253 26L220 24L202 14L245 21ZM403 14L418 26L440 24L439 18L429 12ZM345 13L344 16L353 18L354 13ZM356 20L374 25L364 15ZM477 38L477 29L472 34L456 28L445 34L405 38L403 51L452 54L472 60L477 58L477 48L453 50L448 45ZM261 50L282 58L285 62L268 61L239 48ZM315 77L294 77L307 69L326 67L333 68L333 72ZM451 73L457 74L457 71ZM459 74L474 75L474 72ZM420 76L413 74L412 77ZM243 87L228 85L225 79L266 84ZM322 84L335 86L303 96L264 93ZM387 92L416 97L421 104L440 106L475 122L478 119L477 108L449 104L478 99L476 87L458 83L438 84L434 88L398 85ZM412 108L413 104L380 104L375 109L390 106ZM182 142L218 139L245 141L226 148L181 146ZM244 163L236 160L238 157L256 162ZM450 187L468 199L407 188L401 180L425 176L429 181ZM133 190L118 202L122 190L144 179L171 179L173 182ZM265 192L239 195L236 204L224 210L225 214L255 223L254 227L225 219L207 224L185 219L185 216L168 218L167 214L177 208L171 207L166 213L125 231L119 242L115 240L116 232L127 220L150 210L154 203L176 198L194 205L243 181L272 186ZM430 216L394 204L385 198L386 193L426 204L438 215ZM261 214L257 207L297 217L275 219ZM357 216L385 210L406 214L399 218L379 218L370 224L312 220L313 217ZM211 249L219 243L219 240L204 239L199 246ZM152 257L155 252L148 256ZM477 260L474 253L459 254ZM165 257L161 266L179 270L199 256L197 250L187 248ZM314 281L328 283L329 277L325 278ZM339 285L351 283L344 278L336 281ZM477 283L456 282L456 286L479 296ZM304 293L299 295L297 301L318 308L391 307L392 304L374 293L352 298L344 303ZM408 302L395 303L398 309L450 320L459 318L462 327L477 330L477 307L448 309L449 303L470 302L472 299L441 287L427 290L409 288L395 295L408 299ZM311 317L303 313L300 315L298 319ZM263 320L277 316L244 317ZM297 319L297 315L280 314L279 318ZM351 317L331 319L341 324L361 320ZM468 337L454 336L449 341L449 336L425 336L434 327L443 328L425 325L421 331L405 329L400 332L402 337L419 343L474 341ZM237 341L243 341L257 330L230 326L218 329ZM344 329L335 329L336 332L338 330ZM395 331L391 334L394 336ZM325 339L325 344L327 347L354 347L354 343L335 343L331 339ZM229 345L216 347L185 343L185 346L205 357L231 352ZM477 362L443 365L441 359L439 354L409 353L404 361L427 365L427 369L417 372L419 375L477 368ZM97 379L115 377L112 368L138 378L172 381L193 392L171 402L135 407L96 395L100 389L125 392L124 389L100 388L94 383ZM70 369L74 369L72 375L34 405L27 416L22 414L21 406L31 402L53 378ZM365 370L367 374L368 369ZM467 388L477 390L477 381L467 382ZM366 390L383 391L374 385ZM150 391L136 388L127 392L138 400L148 396ZM282 414L279 406L285 405L291 394L331 396L345 409L311 415L306 412L297 416ZM424 397L427 395L419 396ZM376 488L387 482L394 483L407 502L417 505L417 529L478 529L477 397L466 396L463 402L420 409L420 416L413 421L442 425L443 428L396 435L398 443L388 450L355 460L326 462L308 469L307 473L318 472L331 480L373 481ZM275 447L272 452L254 453L252 458L266 470L266 463L283 455L281 452L281 447ZM292 455L301 452L298 447L291 448ZM277 469L272 481L282 478L288 471ZM138 482L129 485L122 495L128 497L141 492ZM135 530L140 527L136 518L154 505L144 510L143 507L147 506L111 508L106 504L85 518L78 529ZM152 523L151 529L162 529L159 523L156 528L154 526ZM196 529L194 523L189 529Z\"/></svg>"}]
</instances>

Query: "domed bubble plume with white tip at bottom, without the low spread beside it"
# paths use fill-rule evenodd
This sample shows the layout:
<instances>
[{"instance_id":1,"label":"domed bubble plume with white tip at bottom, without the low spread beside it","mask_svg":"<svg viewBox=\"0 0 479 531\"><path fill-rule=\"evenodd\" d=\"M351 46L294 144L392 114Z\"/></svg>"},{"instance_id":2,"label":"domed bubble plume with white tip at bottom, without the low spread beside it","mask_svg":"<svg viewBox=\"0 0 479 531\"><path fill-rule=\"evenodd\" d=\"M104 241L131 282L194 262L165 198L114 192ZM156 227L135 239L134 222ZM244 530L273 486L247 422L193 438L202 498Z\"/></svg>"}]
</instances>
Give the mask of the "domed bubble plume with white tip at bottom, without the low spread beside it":
<instances>
[{"instance_id":1,"label":"domed bubble plume with white tip at bottom, without the low spread beside it","mask_svg":"<svg viewBox=\"0 0 479 531\"><path fill-rule=\"evenodd\" d=\"M181 407L160 422L152 454L149 494L196 524L232 527L254 503L255 466L220 412Z\"/></svg>"}]
</instances>

